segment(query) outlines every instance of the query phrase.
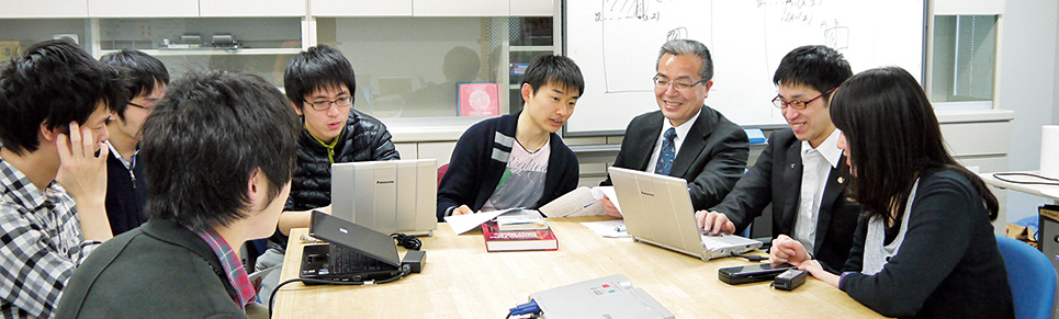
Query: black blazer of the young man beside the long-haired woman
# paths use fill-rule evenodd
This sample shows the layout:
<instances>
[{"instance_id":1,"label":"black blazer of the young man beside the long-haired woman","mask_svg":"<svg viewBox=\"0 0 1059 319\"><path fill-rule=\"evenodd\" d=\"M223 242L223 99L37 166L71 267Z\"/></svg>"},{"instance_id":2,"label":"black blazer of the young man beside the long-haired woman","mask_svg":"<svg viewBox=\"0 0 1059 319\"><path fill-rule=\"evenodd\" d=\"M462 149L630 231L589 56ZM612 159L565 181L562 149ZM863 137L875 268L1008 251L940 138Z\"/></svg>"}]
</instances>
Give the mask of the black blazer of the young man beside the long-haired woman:
<instances>
[{"instance_id":1,"label":"black blazer of the young man beside the long-haired woman","mask_svg":"<svg viewBox=\"0 0 1059 319\"><path fill-rule=\"evenodd\" d=\"M813 257L833 267L846 262L860 215L860 206L846 198L845 185L838 182L845 170L846 160L841 157L838 167L832 168L827 175L813 242ZM762 215L765 206L773 204L773 237L791 235L798 217L801 173L801 140L790 128L773 132L757 163L735 184L732 193L710 210L724 213L739 233Z\"/></svg>"}]
</instances>

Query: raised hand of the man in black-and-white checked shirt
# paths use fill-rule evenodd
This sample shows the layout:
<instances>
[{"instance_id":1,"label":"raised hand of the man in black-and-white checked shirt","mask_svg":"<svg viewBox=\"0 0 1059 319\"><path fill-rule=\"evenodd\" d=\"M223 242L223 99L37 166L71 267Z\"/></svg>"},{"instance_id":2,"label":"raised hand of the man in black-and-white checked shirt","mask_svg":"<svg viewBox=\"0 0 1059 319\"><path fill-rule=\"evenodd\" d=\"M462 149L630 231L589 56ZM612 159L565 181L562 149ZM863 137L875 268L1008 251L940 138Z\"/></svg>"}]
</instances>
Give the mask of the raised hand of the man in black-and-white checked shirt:
<instances>
[{"instance_id":1,"label":"raised hand of the man in black-and-white checked shirt","mask_svg":"<svg viewBox=\"0 0 1059 319\"><path fill-rule=\"evenodd\" d=\"M86 240L114 237L106 219L106 156L110 148L97 143L92 129L70 123L70 136L58 134L59 170L55 181L74 197ZM95 150L99 149L99 157Z\"/></svg>"}]
</instances>

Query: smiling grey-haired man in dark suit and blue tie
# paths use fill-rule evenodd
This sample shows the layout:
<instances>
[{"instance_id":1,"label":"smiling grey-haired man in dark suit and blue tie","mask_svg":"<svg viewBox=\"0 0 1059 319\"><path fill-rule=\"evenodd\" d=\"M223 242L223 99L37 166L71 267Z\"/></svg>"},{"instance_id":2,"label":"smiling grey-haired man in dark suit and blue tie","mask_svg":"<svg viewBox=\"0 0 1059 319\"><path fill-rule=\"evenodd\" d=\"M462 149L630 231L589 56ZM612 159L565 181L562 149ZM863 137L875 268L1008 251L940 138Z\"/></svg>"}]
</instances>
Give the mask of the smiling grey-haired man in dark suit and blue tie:
<instances>
[{"instance_id":1,"label":"smiling grey-haired man in dark suit and blue tie","mask_svg":"<svg viewBox=\"0 0 1059 319\"><path fill-rule=\"evenodd\" d=\"M746 168L746 133L703 104L713 86L713 60L705 45L666 42L656 68L654 93L661 110L629 123L613 166L683 178L696 210L717 205ZM610 178L600 185L611 185ZM601 202L607 215L621 217L609 198Z\"/></svg>"}]
</instances>

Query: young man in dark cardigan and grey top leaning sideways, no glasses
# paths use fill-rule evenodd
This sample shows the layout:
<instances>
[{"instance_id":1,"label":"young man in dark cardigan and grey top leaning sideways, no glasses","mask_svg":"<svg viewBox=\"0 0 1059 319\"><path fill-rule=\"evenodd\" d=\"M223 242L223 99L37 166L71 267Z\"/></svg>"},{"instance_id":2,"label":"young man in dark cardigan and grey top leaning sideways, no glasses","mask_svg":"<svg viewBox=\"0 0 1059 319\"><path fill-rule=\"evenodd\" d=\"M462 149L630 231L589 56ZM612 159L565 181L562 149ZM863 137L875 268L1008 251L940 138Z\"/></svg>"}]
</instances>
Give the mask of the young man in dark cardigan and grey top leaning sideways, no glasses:
<instances>
[{"instance_id":1,"label":"young man in dark cardigan and grey top leaning sideways, no glasses","mask_svg":"<svg viewBox=\"0 0 1059 319\"><path fill-rule=\"evenodd\" d=\"M522 112L478 122L452 150L438 187L438 220L446 216L537 208L577 187L577 157L559 132L585 91L567 57L544 55L522 80Z\"/></svg>"}]
</instances>

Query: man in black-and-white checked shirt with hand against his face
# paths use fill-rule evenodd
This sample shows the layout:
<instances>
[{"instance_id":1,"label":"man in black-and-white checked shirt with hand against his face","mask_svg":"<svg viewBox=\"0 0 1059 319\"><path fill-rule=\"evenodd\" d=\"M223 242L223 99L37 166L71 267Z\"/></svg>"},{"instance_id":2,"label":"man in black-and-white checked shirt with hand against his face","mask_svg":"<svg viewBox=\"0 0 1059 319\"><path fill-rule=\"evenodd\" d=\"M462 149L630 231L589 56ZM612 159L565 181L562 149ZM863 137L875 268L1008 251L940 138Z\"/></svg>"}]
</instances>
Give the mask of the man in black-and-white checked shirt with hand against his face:
<instances>
[{"instance_id":1,"label":"man in black-and-white checked shirt with hand against his face","mask_svg":"<svg viewBox=\"0 0 1059 319\"><path fill-rule=\"evenodd\" d=\"M0 317L52 317L74 269L113 237L103 140L127 100L121 73L72 43L0 64Z\"/></svg>"}]
</instances>

